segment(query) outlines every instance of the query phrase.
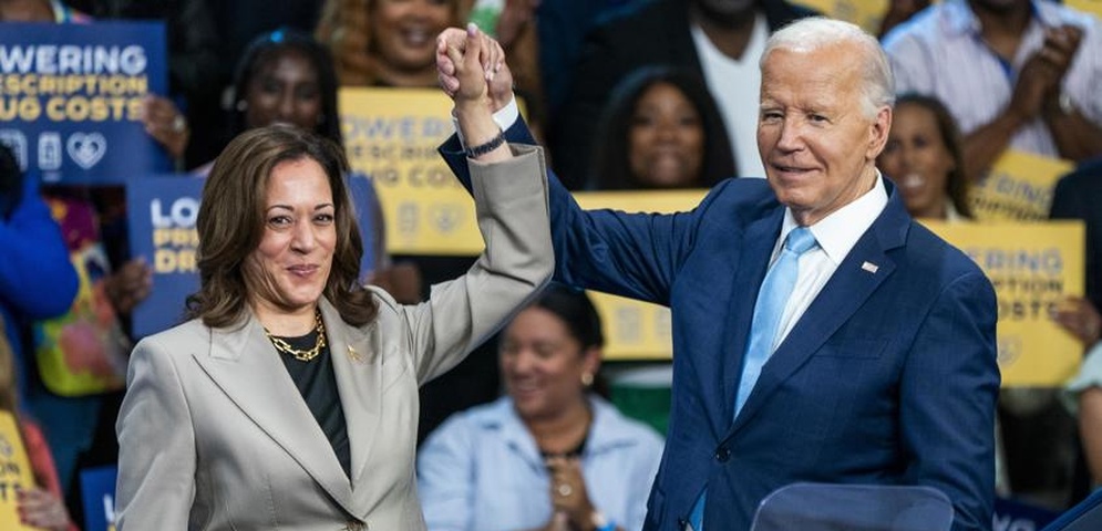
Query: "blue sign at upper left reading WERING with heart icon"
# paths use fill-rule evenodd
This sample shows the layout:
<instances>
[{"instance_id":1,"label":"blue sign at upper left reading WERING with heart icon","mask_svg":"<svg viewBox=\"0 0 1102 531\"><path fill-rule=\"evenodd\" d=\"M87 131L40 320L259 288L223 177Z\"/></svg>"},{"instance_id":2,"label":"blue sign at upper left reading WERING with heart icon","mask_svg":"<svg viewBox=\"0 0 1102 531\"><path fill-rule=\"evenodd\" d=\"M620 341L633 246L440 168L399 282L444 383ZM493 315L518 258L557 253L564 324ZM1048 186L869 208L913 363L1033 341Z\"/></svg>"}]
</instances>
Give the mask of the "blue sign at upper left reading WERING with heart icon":
<instances>
[{"instance_id":1,"label":"blue sign at upper left reading WERING with heart icon","mask_svg":"<svg viewBox=\"0 0 1102 531\"><path fill-rule=\"evenodd\" d=\"M163 22L0 24L0 143L43 183L122 183L169 171L141 122L166 95Z\"/></svg>"}]
</instances>

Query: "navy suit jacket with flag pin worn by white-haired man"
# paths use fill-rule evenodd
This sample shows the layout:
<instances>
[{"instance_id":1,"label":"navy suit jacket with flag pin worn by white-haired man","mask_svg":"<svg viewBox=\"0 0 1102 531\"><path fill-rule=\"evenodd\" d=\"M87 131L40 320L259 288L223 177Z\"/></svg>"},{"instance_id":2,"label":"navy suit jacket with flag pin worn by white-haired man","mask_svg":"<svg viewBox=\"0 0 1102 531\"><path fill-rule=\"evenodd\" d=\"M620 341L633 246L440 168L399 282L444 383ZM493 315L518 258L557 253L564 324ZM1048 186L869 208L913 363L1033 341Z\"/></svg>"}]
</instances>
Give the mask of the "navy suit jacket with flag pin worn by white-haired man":
<instances>
[{"instance_id":1,"label":"navy suit jacket with flag pin worn by white-haired man","mask_svg":"<svg viewBox=\"0 0 1102 531\"><path fill-rule=\"evenodd\" d=\"M506 137L532 143L519 121ZM457 140L441 152L467 183ZM952 500L954 529L990 529L995 291L885 184L887 207L732 420L784 218L768 183L728 179L690 212L629 215L581 210L552 178L556 278L672 311L672 404L645 529L682 529L707 486L704 528L745 530L764 497L797 481L929 486Z\"/></svg>"}]
</instances>

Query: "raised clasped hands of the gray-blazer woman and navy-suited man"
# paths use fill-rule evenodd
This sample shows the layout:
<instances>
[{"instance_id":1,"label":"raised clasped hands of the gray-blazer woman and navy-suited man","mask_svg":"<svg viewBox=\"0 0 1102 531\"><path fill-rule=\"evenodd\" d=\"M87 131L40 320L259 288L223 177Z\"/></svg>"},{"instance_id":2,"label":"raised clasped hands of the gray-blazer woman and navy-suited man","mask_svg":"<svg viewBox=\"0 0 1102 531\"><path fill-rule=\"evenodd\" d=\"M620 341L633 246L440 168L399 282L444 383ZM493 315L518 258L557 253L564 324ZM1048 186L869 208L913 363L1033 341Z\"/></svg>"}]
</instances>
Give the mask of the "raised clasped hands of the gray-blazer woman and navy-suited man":
<instances>
[{"instance_id":1,"label":"raised clasped hands of the gray-blazer woman and navy-suited man","mask_svg":"<svg viewBox=\"0 0 1102 531\"><path fill-rule=\"evenodd\" d=\"M513 74L505 64L505 51L474 24L440 33L436 73L441 88L456 106L488 96L490 111L497 112L513 97Z\"/></svg>"}]
</instances>

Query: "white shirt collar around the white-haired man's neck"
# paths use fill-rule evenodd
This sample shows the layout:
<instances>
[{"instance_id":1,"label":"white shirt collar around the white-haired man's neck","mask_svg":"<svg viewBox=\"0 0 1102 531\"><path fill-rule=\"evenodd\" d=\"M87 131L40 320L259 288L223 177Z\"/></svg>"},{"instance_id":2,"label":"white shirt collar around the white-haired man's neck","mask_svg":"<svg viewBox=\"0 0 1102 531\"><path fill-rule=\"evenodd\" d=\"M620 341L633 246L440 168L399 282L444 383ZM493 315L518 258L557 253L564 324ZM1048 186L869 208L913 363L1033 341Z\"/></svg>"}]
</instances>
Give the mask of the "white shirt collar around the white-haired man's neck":
<instances>
[{"instance_id":1,"label":"white shirt collar around the white-haired man's neck","mask_svg":"<svg viewBox=\"0 0 1102 531\"><path fill-rule=\"evenodd\" d=\"M861 236L873 226L873 221L884 211L888 204L884 177L876 170L876 184L873 189L858 197L857 200L831 212L817 223L809 227L818 247L826 252L835 266L841 264ZM787 238L789 232L799 227L792 216L792 209L784 209L784 222L781 225L781 237L777 246ZM774 249L775 250L775 249Z\"/></svg>"}]
</instances>

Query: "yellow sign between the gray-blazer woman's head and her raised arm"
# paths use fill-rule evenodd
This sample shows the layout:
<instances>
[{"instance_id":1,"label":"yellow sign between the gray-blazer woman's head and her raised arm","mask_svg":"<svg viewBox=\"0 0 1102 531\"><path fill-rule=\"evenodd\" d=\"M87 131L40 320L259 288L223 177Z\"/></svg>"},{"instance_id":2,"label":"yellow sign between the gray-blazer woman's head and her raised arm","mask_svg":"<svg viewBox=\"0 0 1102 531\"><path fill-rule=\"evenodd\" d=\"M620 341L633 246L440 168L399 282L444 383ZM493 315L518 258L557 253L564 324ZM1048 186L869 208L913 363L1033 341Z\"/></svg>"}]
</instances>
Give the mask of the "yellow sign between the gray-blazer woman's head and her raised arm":
<instances>
[{"instance_id":1,"label":"yellow sign between the gray-blazer woman's head and her raised arm","mask_svg":"<svg viewBox=\"0 0 1102 531\"><path fill-rule=\"evenodd\" d=\"M436 153L455 131L439 88L340 90L341 132L352 169L369 175L396 254L477 254L474 201Z\"/></svg>"}]
</instances>

